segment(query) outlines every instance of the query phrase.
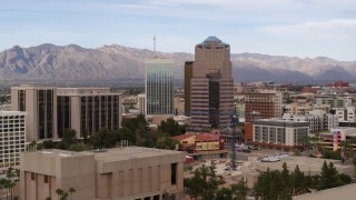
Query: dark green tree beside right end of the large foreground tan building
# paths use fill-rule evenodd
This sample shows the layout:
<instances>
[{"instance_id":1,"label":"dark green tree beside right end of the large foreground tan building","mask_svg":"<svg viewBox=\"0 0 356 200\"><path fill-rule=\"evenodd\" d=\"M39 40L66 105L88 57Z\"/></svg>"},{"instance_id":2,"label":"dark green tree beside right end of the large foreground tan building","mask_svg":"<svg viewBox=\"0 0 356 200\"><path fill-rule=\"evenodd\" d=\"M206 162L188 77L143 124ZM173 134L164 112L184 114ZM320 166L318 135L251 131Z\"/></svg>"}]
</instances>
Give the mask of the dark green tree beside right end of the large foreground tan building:
<instances>
[{"instance_id":1,"label":"dark green tree beside right end of the large foreground tan building","mask_svg":"<svg viewBox=\"0 0 356 200\"><path fill-rule=\"evenodd\" d=\"M218 187L224 183L221 176L216 174L216 166L211 161L209 167L202 166L192 172L191 178L185 179L186 192L192 199L214 199Z\"/></svg>"}]
</instances>

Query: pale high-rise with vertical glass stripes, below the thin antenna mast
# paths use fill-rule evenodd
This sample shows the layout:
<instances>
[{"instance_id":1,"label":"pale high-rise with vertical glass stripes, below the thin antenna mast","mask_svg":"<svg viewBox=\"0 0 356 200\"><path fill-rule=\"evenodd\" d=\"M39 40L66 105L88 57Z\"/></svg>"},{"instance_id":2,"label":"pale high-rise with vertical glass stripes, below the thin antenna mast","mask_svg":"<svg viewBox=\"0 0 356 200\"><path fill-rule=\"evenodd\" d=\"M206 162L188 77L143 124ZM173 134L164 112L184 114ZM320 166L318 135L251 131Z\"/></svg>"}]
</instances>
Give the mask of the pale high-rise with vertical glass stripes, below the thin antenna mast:
<instances>
[{"instance_id":1,"label":"pale high-rise with vertical glass stripes, below the thin antenna mast","mask_svg":"<svg viewBox=\"0 0 356 200\"><path fill-rule=\"evenodd\" d=\"M146 114L174 114L174 61L150 59L145 61Z\"/></svg>"}]
</instances>

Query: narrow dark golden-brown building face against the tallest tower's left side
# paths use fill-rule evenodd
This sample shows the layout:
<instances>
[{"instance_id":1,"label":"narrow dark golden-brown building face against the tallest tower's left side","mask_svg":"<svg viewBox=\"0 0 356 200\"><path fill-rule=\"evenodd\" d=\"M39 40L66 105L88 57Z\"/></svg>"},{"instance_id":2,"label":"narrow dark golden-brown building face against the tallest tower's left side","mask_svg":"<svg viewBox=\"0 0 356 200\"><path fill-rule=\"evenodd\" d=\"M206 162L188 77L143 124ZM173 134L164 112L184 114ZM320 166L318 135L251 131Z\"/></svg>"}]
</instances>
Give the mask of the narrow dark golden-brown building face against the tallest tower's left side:
<instances>
[{"instance_id":1,"label":"narrow dark golden-brown building face against the tallest tower's left side","mask_svg":"<svg viewBox=\"0 0 356 200\"><path fill-rule=\"evenodd\" d=\"M190 117L191 109L192 63L192 61L187 61L185 64L185 116L188 117Z\"/></svg>"}]
</instances>

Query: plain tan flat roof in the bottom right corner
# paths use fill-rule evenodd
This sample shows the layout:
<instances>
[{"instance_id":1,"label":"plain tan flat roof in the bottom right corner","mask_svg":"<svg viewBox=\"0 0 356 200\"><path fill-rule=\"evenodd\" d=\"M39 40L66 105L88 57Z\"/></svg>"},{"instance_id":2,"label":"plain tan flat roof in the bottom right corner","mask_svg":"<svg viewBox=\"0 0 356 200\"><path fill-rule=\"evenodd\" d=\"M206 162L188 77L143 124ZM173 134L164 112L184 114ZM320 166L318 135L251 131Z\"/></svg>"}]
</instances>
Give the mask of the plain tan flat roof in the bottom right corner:
<instances>
[{"instance_id":1,"label":"plain tan flat roof in the bottom right corner","mask_svg":"<svg viewBox=\"0 0 356 200\"><path fill-rule=\"evenodd\" d=\"M355 200L356 183L294 197L297 200Z\"/></svg>"}]
</instances>

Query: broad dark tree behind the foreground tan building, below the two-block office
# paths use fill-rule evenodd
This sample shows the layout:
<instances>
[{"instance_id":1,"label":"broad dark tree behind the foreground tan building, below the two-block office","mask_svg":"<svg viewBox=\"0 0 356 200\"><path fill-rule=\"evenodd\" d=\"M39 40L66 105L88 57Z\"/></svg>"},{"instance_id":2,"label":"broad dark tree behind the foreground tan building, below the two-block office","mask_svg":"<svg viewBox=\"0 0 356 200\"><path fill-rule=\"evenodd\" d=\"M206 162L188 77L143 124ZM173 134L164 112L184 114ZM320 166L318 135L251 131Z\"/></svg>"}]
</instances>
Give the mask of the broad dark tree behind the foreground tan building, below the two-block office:
<instances>
[{"instance_id":1,"label":"broad dark tree behind the foreground tan building, below the two-block office","mask_svg":"<svg viewBox=\"0 0 356 200\"><path fill-rule=\"evenodd\" d=\"M118 133L107 129L101 129L89 138L89 144L93 149L113 148L117 141Z\"/></svg>"}]
</instances>

